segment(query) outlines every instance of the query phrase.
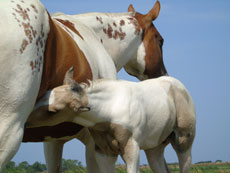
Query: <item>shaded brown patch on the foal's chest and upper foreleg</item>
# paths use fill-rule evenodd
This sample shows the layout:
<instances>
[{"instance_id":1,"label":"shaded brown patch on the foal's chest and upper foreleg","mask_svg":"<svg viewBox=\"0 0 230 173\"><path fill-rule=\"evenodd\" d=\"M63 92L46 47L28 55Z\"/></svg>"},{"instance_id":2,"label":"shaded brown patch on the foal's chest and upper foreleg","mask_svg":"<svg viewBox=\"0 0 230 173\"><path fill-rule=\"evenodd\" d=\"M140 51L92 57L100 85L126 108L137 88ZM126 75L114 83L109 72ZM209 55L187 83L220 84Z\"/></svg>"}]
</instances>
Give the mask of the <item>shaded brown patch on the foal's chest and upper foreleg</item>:
<instances>
[{"instance_id":1,"label":"shaded brown patch on the foal's chest and upper foreleg","mask_svg":"<svg viewBox=\"0 0 230 173\"><path fill-rule=\"evenodd\" d=\"M109 122L98 123L90 127L89 131L95 141L96 150L112 156L121 154L132 136L128 129Z\"/></svg>"}]
</instances>

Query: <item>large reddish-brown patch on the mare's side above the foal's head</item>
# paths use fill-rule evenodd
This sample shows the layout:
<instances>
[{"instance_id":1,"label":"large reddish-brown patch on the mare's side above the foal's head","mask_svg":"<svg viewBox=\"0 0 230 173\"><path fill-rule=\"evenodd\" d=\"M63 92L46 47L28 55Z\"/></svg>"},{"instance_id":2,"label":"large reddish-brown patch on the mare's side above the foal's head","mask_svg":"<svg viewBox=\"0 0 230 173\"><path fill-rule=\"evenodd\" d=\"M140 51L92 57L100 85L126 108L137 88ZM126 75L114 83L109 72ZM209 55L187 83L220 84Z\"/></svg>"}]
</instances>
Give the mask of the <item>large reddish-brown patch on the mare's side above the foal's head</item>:
<instances>
[{"instance_id":1,"label":"large reddish-brown patch on the mare's side above the foal's head","mask_svg":"<svg viewBox=\"0 0 230 173\"><path fill-rule=\"evenodd\" d=\"M71 36L49 16L50 33L46 41L44 67L38 98L47 90L62 85L66 71L74 66L74 80L78 83L92 80L89 63Z\"/></svg>"}]
</instances>

